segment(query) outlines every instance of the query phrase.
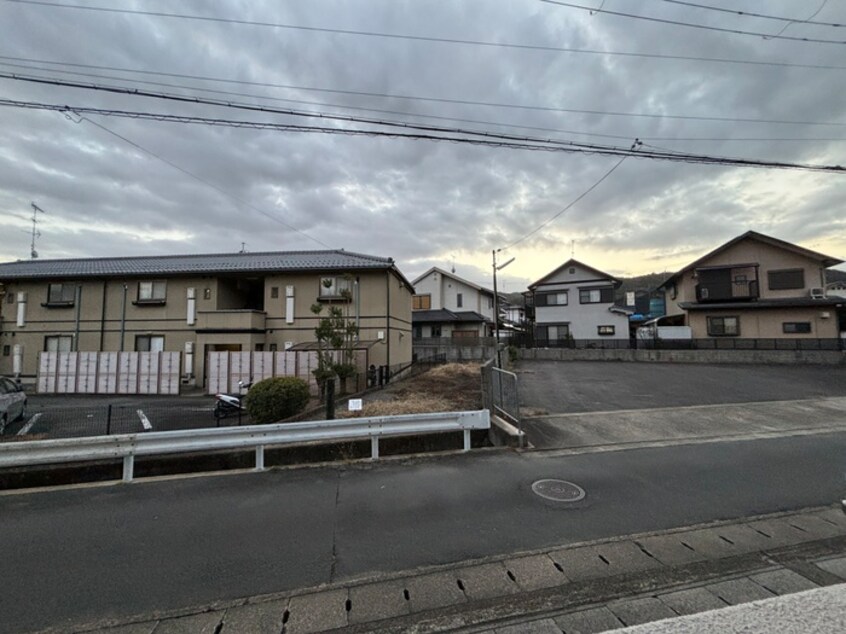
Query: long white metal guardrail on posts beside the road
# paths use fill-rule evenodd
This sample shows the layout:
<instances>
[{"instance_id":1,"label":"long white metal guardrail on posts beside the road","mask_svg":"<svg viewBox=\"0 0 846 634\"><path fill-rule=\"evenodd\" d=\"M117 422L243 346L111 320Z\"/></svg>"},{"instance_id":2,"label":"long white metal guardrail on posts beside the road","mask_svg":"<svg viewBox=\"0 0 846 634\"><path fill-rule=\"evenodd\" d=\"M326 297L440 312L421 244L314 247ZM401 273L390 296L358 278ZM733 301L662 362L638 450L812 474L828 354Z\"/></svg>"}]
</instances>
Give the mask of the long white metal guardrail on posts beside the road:
<instances>
[{"instance_id":1,"label":"long white metal guardrail on posts beside the road","mask_svg":"<svg viewBox=\"0 0 846 634\"><path fill-rule=\"evenodd\" d=\"M479 410L13 442L0 444L0 468L122 458L123 480L130 482L135 456L254 448L255 469L261 471L269 445L370 438L376 460L383 436L463 431L464 451L469 451L470 430L489 428L489 412Z\"/></svg>"}]
</instances>

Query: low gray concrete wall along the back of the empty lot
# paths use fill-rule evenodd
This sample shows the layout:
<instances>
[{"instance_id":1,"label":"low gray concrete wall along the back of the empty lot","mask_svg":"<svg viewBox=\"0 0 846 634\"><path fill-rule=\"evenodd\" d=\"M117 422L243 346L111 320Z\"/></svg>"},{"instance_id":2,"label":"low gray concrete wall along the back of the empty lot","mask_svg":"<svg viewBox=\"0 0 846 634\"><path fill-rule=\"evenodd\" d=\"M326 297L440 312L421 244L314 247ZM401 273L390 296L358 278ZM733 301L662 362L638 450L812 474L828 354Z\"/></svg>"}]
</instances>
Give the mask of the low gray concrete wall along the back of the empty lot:
<instances>
[{"instance_id":1,"label":"low gray concrete wall along the back of the empty lot","mask_svg":"<svg viewBox=\"0 0 846 634\"><path fill-rule=\"evenodd\" d=\"M830 350L571 350L521 348L520 359L538 361L654 361L658 363L762 363L846 365L846 351Z\"/></svg>"}]
</instances>

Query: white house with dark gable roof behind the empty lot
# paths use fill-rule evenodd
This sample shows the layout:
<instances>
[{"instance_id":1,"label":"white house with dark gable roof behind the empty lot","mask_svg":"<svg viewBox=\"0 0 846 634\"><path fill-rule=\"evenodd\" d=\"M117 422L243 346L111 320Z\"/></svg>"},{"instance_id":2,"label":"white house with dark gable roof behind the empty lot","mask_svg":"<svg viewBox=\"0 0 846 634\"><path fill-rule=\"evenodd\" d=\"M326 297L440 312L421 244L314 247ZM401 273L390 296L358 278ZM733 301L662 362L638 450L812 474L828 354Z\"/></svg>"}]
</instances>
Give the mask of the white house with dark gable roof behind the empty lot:
<instances>
[{"instance_id":1,"label":"white house with dark gable roof behind the empty lot","mask_svg":"<svg viewBox=\"0 0 846 634\"><path fill-rule=\"evenodd\" d=\"M531 284L537 344L628 339L628 311L614 306L614 289L620 284L572 259Z\"/></svg>"}]
</instances>

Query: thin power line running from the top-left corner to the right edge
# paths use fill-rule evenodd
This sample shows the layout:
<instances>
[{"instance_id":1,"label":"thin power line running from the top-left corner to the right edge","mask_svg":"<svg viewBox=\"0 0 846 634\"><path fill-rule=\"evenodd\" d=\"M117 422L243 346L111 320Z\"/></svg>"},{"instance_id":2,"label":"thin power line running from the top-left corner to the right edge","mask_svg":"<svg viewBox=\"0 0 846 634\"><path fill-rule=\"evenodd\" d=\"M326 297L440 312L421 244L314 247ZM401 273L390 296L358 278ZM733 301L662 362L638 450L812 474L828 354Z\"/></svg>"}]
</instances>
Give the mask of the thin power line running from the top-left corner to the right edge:
<instances>
[{"instance_id":1,"label":"thin power line running from the top-left corner to the right edge","mask_svg":"<svg viewBox=\"0 0 846 634\"><path fill-rule=\"evenodd\" d=\"M278 22L258 22L252 20L238 20L234 18L220 18L203 15L189 15L184 13L165 13L162 11L142 11L139 9L116 9L112 7L97 7L84 6L74 4L61 4L57 2L43 2L41 0L4 0L15 4L29 4L36 6L55 7L60 9L78 9L82 11L95 11L102 13L124 13L130 15L145 15L149 17L173 18L181 20L200 20L205 22L218 22L224 24L241 24L246 26L266 27L275 29L288 29L296 31L311 31L316 33L333 33L336 35L350 35L358 37L371 37L392 40L410 40L418 42L430 42L437 44L454 44L461 46L483 46L489 48L505 48L526 51L540 51L551 53L575 53L585 55L603 55L603 56L619 56L619 57L634 57L634 58L650 58L650 59L664 59L676 61L697 61L697 62L711 62L718 64L749 64L753 66L784 66L795 68L814 68L825 70L846 70L846 66L832 66L821 64L799 64L793 62L773 62L773 61L758 61L758 60L740 60L720 57L697 57L688 55L663 55L658 53L636 53L630 51L605 51L600 49L582 49L570 48L564 46L543 46L540 44L516 44L512 42L492 42L487 40L471 40L460 38L446 38L424 35L408 35L403 33L383 33L377 31L357 31L351 29L333 29L327 27L301 26L297 24L284 24ZM590 9L597 12L596 9Z\"/></svg>"}]
</instances>

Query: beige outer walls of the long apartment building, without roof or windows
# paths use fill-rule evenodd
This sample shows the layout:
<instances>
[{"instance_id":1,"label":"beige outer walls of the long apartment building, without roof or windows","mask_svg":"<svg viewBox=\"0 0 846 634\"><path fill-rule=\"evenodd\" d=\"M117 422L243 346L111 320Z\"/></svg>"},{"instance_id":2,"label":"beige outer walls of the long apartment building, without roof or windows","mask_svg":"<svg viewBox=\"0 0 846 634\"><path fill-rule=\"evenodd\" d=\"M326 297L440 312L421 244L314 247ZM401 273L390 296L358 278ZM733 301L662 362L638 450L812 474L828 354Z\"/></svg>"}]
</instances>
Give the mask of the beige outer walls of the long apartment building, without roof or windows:
<instances>
[{"instance_id":1,"label":"beige outer walls of the long apartment building, without roof or windows","mask_svg":"<svg viewBox=\"0 0 846 634\"><path fill-rule=\"evenodd\" d=\"M271 345L283 350L286 342L293 344L314 341L314 329L320 319L311 312L317 302L320 278L331 274L271 275L265 278L266 333L197 333L196 324L187 323L187 291L195 289L197 312L217 310L221 294L227 294L225 285L216 278L168 278L166 303L139 305L138 281L135 280L86 280L82 286L79 306L79 350L117 351L121 349L121 314L126 285L126 319L124 322L124 350L135 349L138 335L162 335L165 350L183 352L187 342L194 342L195 375L203 376L205 343L240 345L242 350L255 350L261 345L269 350ZM343 275L343 272L337 272ZM376 365L408 363L411 361L411 292L393 273L388 271L359 271L351 274L358 280L360 304L358 321L362 340L375 341L382 335L382 342L371 348L370 363ZM150 278L154 281L156 278ZM148 281L148 280L144 280ZM74 280L68 283L76 282ZM294 321L286 323L285 288L294 287ZM6 284L7 293L26 292L26 325L18 328L17 301L3 304L0 321L0 374L11 374L15 344L22 345L23 372L27 377L37 373L38 353L44 349L44 338L49 335L73 335L76 329L76 307L48 308L47 282L14 282ZM270 289L279 288L279 297L270 297ZM205 289L209 289L209 299ZM105 289L105 304L104 304ZM388 294L390 293L391 318L388 319ZM5 299L5 298L4 298ZM225 299L225 298L224 298ZM224 303L226 303L224 301ZM339 305L350 319L356 318L355 301ZM105 311L104 311L105 306ZM2 355L8 345L10 354Z\"/></svg>"}]
</instances>

